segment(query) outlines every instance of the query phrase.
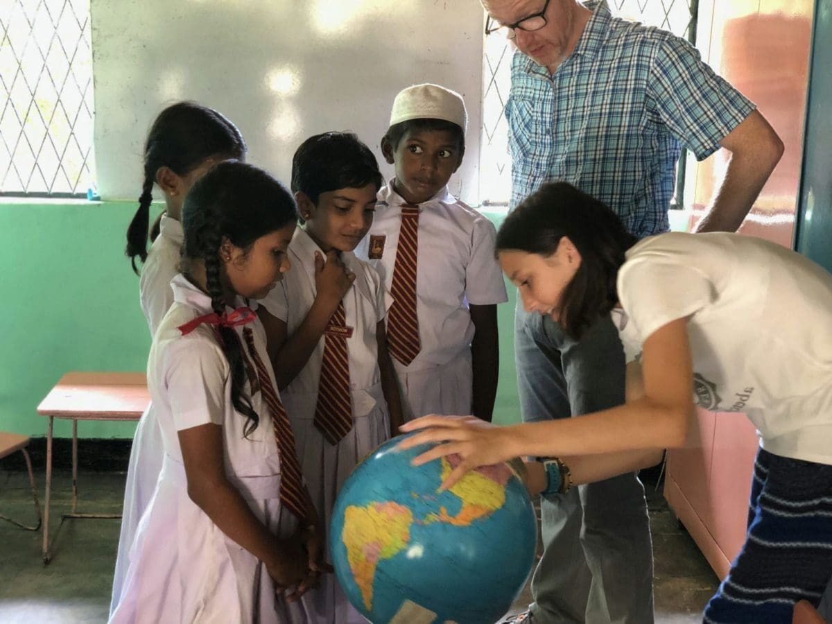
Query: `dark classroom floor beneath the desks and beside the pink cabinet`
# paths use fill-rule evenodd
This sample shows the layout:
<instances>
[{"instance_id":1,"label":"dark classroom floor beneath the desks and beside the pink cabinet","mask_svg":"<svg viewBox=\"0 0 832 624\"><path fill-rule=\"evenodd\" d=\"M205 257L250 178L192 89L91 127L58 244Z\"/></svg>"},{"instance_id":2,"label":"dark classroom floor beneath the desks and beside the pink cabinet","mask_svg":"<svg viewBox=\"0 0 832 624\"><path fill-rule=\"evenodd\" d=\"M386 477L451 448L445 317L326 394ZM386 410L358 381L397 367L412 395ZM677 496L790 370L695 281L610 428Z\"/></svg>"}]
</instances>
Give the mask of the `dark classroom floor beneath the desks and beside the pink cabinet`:
<instances>
[{"instance_id":1,"label":"dark classroom floor beneath the desks and beside the pink cabinet","mask_svg":"<svg viewBox=\"0 0 832 624\"><path fill-rule=\"evenodd\" d=\"M42 474L37 475L42 484ZM115 564L117 520L67 520L60 514L72 503L68 473L53 478L54 556L41 561L41 533L0 522L0 622L105 622ZM118 513L124 475L81 473L80 512ZM664 499L648 488L656 569L656 622L701 622L700 613L716 590L717 579L687 533L678 526ZM39 492L42 503L42 488ZM29 521L32 499L26 473L0 471L0 513ZM54 518L58 518L54 522ZM528 591L516 606L529 601Z\"/></svg>"}]
</instances>

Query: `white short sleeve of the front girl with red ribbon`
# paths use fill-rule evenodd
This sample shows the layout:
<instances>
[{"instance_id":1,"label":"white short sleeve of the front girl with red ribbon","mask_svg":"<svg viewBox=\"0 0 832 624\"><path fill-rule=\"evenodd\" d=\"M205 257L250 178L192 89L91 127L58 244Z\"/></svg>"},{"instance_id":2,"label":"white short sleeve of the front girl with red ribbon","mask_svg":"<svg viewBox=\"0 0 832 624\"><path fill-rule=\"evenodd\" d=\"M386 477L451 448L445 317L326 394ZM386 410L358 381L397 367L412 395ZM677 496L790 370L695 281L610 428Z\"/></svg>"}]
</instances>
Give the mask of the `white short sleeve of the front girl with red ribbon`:
<instances>
[{"instance_id":1,"label":"white short sleeve of the front girl with red ribbon","mask_svg":"<svg viewBox=\"0 0 832 624\"><path fill-rule=\"evenodd\" d=\"M165 384L176 430L209 423L222 425L228 383L228 362L219 344L211 344L199 335L171 344Z\"/></svg>"}]
</instances>

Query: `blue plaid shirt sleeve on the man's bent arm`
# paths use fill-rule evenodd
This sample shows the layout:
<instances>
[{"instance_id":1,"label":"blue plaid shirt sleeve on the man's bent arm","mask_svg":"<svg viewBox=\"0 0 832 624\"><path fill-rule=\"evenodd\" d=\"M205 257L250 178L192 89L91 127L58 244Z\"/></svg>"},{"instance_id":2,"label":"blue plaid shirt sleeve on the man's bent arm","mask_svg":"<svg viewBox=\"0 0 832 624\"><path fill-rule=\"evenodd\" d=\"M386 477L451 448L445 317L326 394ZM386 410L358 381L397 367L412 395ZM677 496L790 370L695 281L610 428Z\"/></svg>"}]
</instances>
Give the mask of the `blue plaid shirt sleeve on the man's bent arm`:
<instances>
[{"instance_id":1,"label":"blue plaid shirt sleeve on the man's bent arm","mask_svg":"<svg viewBox=\"0 0 832 624\"><path fill-rule=\"evenodd\" d=\"M679 37L659 45L647 81L651 107L697 160L711 156L755 105Z\"/></svg>"}]
</instances>

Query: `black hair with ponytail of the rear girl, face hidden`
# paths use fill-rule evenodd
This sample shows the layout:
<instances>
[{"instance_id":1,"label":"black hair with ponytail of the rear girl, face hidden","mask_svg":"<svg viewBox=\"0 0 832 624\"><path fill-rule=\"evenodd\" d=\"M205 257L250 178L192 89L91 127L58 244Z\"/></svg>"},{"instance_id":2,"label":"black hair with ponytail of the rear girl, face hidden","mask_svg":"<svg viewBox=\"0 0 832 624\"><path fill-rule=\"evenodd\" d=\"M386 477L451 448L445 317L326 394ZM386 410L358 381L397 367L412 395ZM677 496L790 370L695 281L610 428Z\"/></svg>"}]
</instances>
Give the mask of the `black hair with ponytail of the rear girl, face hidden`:
<instances>
[{"instance_id":1,"label":"black hair with ponytail of the rear girl, face hidden","mask_svg":"<svg viewBox=\"0 0 832 624\"><path fill-rule=\"evenodd\" d=\"M125 254L138 275L136 256L147 260L147 226L150 221L156 171L167 166L177 176L186 176L211 156L242 158L245 141L236 126L219 112L196 102L177 102L159 113L147 133L145 177L139 208L127 227ZM151 240L158 235L158 220Z\"/></svg>"}]
</instances>

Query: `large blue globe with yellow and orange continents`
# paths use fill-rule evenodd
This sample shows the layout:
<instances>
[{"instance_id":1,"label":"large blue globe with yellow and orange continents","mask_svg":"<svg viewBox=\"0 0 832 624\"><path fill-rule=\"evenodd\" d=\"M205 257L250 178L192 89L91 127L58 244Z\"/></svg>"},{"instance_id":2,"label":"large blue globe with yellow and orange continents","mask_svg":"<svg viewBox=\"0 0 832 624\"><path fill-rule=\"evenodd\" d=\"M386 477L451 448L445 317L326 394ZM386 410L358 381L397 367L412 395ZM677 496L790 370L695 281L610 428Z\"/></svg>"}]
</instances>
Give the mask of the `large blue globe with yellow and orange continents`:
<instances>
[{"instance_id":1,"label":"large blue globe with yellow and orange continents","mask_svg":"<svg viewBox=\"0 0 832 624\"><path fill-rule=\"evenodd\" d=\"M522 591L534 561L537 521L507 463L439 484L460 459L419 467L422 445L382 444L335 501L329 547L349 602L370 622L492 624Z\"/></svg>"}]
</instances>

